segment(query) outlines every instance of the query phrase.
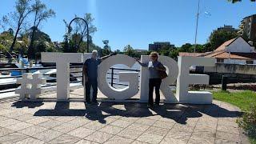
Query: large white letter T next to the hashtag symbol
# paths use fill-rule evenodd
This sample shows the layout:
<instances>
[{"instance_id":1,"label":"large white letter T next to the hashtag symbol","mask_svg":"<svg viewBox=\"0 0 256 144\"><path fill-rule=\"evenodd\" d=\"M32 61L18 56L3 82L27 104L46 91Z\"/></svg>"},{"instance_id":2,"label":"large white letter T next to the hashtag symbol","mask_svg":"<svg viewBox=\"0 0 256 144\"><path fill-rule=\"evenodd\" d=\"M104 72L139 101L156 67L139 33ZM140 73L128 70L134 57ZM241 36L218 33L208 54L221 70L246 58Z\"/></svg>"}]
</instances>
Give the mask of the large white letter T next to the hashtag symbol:
<instances>
[{"instance_id":1,"label":"large white letter T next to the hashtag symbol","mask_svg":"<svg viewBox=\"0 0 256 144\"><path fill-rule=\"evenodd\" d=\"M42 62L56 62L57 99L67 100L70 96L70 62L82 63L81 53L41 53Z\"/></svg>"}]
</instances>

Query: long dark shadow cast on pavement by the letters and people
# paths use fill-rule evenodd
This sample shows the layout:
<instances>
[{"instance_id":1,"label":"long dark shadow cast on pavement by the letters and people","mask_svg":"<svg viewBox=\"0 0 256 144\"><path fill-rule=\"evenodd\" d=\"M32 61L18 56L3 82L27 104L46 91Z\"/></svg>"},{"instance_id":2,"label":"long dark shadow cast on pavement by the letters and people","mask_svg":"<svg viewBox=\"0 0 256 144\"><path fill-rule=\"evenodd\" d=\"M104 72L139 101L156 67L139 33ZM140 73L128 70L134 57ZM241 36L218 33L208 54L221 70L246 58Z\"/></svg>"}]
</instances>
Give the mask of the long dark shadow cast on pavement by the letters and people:
<instances>
[{"instance_id":1,"label":"long dark shadow cast on pavement by the letters and people","mask_svg":"<svg viewBox=\"0 0 256 144\"><path fill-rule=\"evenodd\" d=\"M86 105L85 109L70 109L70 102L56 102L54 109L40 109L43 102L14 102L13 106L22 108L39 107L34 116L84 116L92 121L106 123L109 116L122 116L132 118L146 118L160 115L162 118L170 118L180 124L186 124L187 118L200 118L207 114L214 118L236 118L241 115L238 111L230 111L218 105L183 105L164 104L154 106L152 109L142 103L102 102L99 105Z\"/></svg>"}]
</instances>

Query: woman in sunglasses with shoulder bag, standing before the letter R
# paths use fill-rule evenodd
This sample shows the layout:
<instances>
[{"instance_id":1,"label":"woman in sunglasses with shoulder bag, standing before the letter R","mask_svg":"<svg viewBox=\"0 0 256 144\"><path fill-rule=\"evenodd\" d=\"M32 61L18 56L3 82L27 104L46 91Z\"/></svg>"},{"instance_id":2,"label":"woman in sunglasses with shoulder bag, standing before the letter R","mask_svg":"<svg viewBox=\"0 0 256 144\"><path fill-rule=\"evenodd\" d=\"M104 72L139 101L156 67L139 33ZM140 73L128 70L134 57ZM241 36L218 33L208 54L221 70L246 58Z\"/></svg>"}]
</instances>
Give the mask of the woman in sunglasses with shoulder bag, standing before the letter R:
<instances>
[{"instance_id":1,"label":"woman in sunglasses with shoulder bag, standing before the letter R","mask_svg":"<svg viewBox=\"0 0 256 144\"><path fill-rule=\"evenodd\" d=\"M160 78L159 71L166 71L165 66L161 62L158 62L158 53L152 52L150 54L150 62L142 63L138 59L137 62L141 66L146 66L150 70L150 82L149 82L149 101L148 107L152 107L153 102L153 91L155 90L155 104L158 106L160 102L160 86L162 79ZM154 89L155 88L155 89Z\"/></svg>"}]
</instances>

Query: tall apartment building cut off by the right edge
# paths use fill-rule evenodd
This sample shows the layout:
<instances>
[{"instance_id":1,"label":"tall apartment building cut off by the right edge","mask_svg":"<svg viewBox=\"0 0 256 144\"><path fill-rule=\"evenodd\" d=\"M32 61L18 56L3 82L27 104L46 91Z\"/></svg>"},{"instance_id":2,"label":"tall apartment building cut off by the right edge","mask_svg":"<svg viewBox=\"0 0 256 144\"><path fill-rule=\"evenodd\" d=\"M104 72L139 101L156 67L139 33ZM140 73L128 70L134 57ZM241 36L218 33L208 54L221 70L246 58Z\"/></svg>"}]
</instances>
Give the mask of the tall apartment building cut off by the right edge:
<instances>
[{"instance_id":1,"label":"tall apartment building cut off by the right edge","mask_svg":"<svg viewBox=\"0 0 256 144\"><path fill-rule=\"evenodd\" d=\"M239 34L256 42L256 14L243 18L239 26Z\"/></svg>"}]
</instances>

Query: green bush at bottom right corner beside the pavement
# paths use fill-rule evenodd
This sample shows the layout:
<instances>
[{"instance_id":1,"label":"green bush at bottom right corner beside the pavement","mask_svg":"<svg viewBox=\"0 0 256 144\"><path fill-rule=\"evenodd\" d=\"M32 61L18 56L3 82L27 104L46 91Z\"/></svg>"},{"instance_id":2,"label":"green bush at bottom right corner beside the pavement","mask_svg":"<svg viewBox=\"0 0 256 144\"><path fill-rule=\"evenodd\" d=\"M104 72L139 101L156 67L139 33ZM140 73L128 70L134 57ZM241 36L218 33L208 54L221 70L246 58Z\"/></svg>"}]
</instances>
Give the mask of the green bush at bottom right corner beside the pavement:
<instances>
[{"instance_id":1,"label":"green bush at bottom right corner beside the pavement","mask_svg":"<svg viewBox=\"0 0 256 144\"><path fill-rule=\"evenodd\" d=\"M256 104L251 104L250 109L246 110L238 121L238 126L242 127L251 139L256 138Z\"/></svg>"}]
</instances>

